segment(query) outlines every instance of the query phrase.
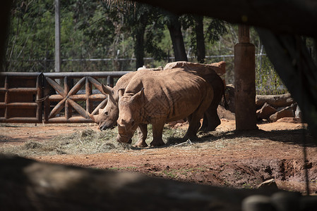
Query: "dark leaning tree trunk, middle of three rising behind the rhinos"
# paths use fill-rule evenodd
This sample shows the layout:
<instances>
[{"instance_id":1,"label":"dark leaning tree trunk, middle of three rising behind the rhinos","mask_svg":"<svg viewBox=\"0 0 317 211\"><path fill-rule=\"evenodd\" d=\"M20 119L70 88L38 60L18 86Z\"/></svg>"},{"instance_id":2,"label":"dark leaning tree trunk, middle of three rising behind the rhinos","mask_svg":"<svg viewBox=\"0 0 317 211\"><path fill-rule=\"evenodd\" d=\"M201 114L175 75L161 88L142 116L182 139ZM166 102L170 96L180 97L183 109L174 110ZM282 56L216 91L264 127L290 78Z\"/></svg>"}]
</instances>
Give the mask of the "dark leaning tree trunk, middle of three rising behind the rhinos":
<instances>
[{"instance_id":1,"label":"dark leaning tree trunk, middle of three rising behind the rhinos","mask_svg":"<svg viewBox=\"0 0 317 211\"><path fill-rule=\"evenodd\" d=\"M167 27L172 39L175 61L188 61L179 17L177 15L169 15Z\"/></svg>"}]
</instances>

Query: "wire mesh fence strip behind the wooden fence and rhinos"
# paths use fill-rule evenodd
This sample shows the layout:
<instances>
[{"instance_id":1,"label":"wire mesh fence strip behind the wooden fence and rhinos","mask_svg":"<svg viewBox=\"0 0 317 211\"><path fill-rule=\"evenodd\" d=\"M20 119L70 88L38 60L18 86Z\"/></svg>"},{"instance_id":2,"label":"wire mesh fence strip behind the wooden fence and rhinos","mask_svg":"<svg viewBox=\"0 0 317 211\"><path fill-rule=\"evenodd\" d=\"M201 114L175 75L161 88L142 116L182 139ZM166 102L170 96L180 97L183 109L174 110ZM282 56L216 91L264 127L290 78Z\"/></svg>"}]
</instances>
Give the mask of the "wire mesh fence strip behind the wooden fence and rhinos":
<instances>
[{"instance_id":1,"label":"wire mesh fence strip behind the wooden fence and rhinos","mask_svg":"<svg viewBox=\"0 0 317 211\"><path fill-rule=\"evenodd\" d=\"M226 62L226 84L234 84L234 55L206 56L205 63ZM144 58L148 68L165 66L173 62L174 57L165 60ZM197 62L195 57L189 61ZM62 72L105 72L105 71L134 71L135 58L90 58L64 59L61 63ZM6 63L8 72L54 72L54 60L11 60ZM256 94L284 94L287 92L280 77L265 54L256 54Z\"/></svg>"}]
</instances>

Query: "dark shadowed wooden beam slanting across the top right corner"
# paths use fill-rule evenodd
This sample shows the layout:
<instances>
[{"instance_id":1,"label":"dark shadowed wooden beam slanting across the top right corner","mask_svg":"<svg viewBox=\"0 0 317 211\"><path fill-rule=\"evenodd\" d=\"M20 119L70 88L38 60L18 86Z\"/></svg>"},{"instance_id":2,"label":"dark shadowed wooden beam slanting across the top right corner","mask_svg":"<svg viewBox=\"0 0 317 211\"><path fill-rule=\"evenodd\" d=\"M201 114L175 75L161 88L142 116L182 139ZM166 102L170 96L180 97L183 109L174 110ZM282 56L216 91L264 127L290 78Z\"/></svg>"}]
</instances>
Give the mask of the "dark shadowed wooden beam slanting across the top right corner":
<instances>
[{"instance_id":1,"label":"dark shadowed wooden beam slanting across the top right corner","mask_svg":"<svg viewBox=\"0 0 317 211\"><path fill-rule=\"evenodd\" d=\"M136 1L136 0L133 0ZM317 35L317 1L312 0L137 0L160 6L177 14L206 15L239 23L265 27L282 33Z\"/></svg>"}]
</instances>

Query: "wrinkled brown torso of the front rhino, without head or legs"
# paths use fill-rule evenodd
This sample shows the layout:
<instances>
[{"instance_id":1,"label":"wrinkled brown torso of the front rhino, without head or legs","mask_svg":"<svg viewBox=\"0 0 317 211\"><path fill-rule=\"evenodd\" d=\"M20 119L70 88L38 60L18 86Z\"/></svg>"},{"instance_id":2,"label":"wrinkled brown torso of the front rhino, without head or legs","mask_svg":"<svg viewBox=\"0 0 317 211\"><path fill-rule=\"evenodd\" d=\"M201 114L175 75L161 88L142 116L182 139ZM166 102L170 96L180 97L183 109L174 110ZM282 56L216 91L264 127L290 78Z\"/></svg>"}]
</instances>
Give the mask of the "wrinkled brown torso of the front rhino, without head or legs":
<instances>
[{"instance_id":1,"label":"wrinkled brown torso of the front rhino, without head or legs","mask_svg":"<svg viewBox=\"0 0 317 211\"><path fill-rule=\"evenodd\" d=\"M142 88L145 99L140 109L144 109L145 118L166 117L167 121L187 117L212 92L205 79L184 69L138 70L126 87L126 94L136 94Z\"/></svg>"}]
</instances>

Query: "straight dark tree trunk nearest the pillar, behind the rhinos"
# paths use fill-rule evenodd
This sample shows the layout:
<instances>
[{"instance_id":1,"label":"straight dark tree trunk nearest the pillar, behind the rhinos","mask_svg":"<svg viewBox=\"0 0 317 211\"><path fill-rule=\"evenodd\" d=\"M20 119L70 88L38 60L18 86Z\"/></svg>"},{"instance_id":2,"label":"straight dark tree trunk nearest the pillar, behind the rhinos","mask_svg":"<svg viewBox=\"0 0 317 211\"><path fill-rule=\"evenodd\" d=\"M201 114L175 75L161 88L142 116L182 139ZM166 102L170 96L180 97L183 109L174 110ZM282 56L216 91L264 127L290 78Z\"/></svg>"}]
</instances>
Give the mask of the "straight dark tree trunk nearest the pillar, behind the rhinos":
<instances>
[{"instance_id":1,"label":"straight dark tree trunk nearest the pillar, behind the rhinos","mask_svg":"<svg viewBox=\"0 0 317 211\"><path fill-rule=\"evenodd\" d=\"M198 63L205 62L205 37L203 36L203 16L195 16L195 32Z\"/></svg>"}]
</instances>

